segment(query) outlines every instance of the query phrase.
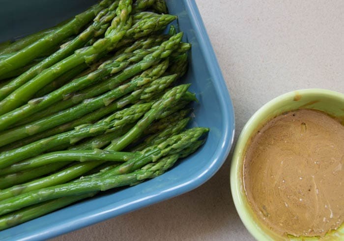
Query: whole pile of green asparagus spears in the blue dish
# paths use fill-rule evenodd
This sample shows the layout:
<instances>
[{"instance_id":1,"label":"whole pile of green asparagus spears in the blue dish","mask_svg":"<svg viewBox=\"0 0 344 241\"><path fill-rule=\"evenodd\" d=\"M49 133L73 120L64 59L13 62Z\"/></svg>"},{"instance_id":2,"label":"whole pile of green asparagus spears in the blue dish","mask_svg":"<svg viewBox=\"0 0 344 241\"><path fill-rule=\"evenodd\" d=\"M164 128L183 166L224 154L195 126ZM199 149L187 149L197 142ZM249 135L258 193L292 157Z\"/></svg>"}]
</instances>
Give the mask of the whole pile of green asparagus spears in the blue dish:
<instances>
[{"instance_id":1,"label":"whole pile of green asparagus spears in the blue dish","mask_svg":"<svg viewBox=\"0 0 344 241\"><path fill-rule=\"evenodd\" d=\"M136 185L204 142L163 0L102 0L0 44L0 230Z\"/></svg>"}]
</instances>

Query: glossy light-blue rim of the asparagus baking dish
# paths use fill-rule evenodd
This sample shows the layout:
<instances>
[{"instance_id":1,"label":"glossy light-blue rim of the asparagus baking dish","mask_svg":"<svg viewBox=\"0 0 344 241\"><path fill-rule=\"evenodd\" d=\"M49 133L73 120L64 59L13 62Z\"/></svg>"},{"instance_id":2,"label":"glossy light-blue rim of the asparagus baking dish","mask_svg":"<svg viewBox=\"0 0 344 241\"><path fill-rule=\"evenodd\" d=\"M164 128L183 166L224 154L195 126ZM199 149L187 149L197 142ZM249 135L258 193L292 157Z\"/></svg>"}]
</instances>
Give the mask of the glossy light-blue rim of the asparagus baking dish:
<instances>
[{"instance_id":1,"label":"glossy light-blue rim of the asparagus baking dish","mask_svg":"<svg viewBox=\"0 0 344 241\"><path fill-rule=\"evenodd\" d=\"M181 195L188 191L191 191L201 184L206 182L210 179L223 165L225 162L230 148L233 143L234 138L234 130L235 130L235 121L234 121L234 109L232 102L229 97L229 92L224 91L227 90L227 86L225 80L223 78L221 69L219 67L218 61L216 59L214 50L210 43L208 34L206 33L203 21L201 19L200 12L198 7L194 1L183 0L185 7L189 9L188 14L190 15L191 25L195 30L195 34L198 38L200 45L202 46L201 52L204 56L205 62L209 66L209 72L214 79L214 88L217 93L221 93L218 96L219 102L221 103L220 109L223 113L224 120L222 121L223 125L223 135L221 136L220 143L217 149L214 152L213 160L206 169L202 170L201 173L197 173L193 176L190 176L185 182L177 187L166 190L164 192L159 192L155 195L136 200L133 202L129 202L125 205L119 207L111 207L109 206L104 207L102 210L92 210L85 212L83 215L79 215L78 217L74 217L74 219L67 219L63 224L57 224L54 227L45 229L44 232L32 232L29 236L25 237L16 237L21 238L20 240L45 240L49 239L67 232L71 232L73 230L86 227L88 225L92 225L94 223L104 221L106 219L127 213L129 211L137 210L142 207L146 207L152 204L156 204L158 202L170 199L172 197ZM135 204L135 208L131 206ZM130 207L130 208L129 208ZM115 214L114 214L115 212ZM49 215L49 214L48 214Z\"/></svg>"}]
</instances>

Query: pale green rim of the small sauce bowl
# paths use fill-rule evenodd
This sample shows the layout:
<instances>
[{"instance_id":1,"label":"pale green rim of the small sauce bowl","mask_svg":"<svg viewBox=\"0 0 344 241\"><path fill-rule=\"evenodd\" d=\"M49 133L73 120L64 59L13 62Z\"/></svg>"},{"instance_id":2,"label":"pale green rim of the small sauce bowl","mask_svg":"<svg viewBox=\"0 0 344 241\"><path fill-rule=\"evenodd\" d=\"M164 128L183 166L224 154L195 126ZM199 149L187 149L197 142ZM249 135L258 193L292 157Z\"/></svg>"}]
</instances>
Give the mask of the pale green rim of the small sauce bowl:
<instances>
[{"instance_id":1,"label":"pale green rim of the small sauce bowl","mask_svg":"<svg viewBox=\"0 0 344 241\"><path fill-rule=\"evenodd\" d=\"M294 91L287 92L283 95L280 95L278 97L275 97L271 101L265 103L246 122L245 126L243 127L235 143L233 156L231 158L230 190L231 190L234 206L239 214L241 221L243 222L244 226L249 231L249 233L258 241L265 241L270 236L267 236L266 232L264 232L264 230L260 228L260 225L254 221L254 219L252 218L251 212L248 210L247 206L245 205L246 195L241 191L240 170L242 169L242 165L239 165L239 163L242 160L247 141L252 136L253 134L252 131L255 130L254 128L252 129L251 127L251 125L255 123L255 120L259 118L259 116L262 113L270 112L269 110L273 109L276 104L284 102L284 101L292 100L295 97L295 95L326 96L326 97L332 97L339 100L342 99L344 102L344 94L336 92L336 91L332 91L332 90L320 89L320 88L294 90ZM251 129L249 127L251 127Z\"/></svg>"}]
</instances>

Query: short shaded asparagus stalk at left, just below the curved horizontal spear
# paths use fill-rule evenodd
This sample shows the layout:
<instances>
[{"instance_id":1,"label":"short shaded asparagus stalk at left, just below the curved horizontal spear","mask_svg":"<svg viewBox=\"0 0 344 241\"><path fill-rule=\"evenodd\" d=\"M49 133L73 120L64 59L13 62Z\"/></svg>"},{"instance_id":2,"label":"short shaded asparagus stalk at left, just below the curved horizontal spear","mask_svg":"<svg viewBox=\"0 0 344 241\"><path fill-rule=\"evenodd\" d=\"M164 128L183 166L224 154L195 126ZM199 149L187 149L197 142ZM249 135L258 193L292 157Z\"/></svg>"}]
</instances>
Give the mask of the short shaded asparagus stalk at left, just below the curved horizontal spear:
<instances>
[{"instance_id":1,"label":"short shaded asparagus stalk at left, just below the curved horizontal spear","mask_svg":"<svg viewBox=\"0 0 344 241\"><path fill-rule=\"evenodd\" d=\"M54 163L48 166L42 166L27 170L25 172L16 172L0 177L0 189L9 188L11 186L28 182L37 177L56 172L61 168L67 166L68 163Z\"/></svg>"}]
</instances>

